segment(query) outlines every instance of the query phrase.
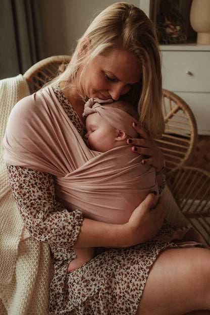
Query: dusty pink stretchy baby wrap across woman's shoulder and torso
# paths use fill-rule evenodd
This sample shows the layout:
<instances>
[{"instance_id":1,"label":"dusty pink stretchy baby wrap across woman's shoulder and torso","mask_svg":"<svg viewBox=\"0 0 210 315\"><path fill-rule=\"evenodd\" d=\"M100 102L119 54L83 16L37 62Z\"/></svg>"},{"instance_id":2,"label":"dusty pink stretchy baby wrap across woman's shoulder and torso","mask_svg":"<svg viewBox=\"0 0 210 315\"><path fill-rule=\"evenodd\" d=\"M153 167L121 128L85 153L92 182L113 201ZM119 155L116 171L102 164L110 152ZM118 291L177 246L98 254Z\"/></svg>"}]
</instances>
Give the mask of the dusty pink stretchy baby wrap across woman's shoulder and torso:
<instances>
[{"instance_id":1,"label":"dusty pink stretchy baby wrap across woman's shoulder and torso","mask_svg":"<svg viewBox=\"0 0 210 315\"><path fill-rule=\"evenodd\" d=\"M143 156L129 145L90 150L51 87L16 104L4 147L6 163L53 174L56 198L86 218L126 223L145 196L158 191L154 168L141 165Z\"/></svg>"}]
</instances>

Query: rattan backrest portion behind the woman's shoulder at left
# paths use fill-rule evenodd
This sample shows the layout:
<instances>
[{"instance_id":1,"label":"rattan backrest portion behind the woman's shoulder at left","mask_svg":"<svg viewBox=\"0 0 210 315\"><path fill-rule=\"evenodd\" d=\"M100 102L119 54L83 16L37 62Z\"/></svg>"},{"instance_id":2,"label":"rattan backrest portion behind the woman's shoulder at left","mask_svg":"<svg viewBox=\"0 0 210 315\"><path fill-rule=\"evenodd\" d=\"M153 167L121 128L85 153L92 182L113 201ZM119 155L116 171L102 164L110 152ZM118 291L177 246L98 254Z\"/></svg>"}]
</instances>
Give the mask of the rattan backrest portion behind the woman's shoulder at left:
<instances>
[{"instance_id":1,"label":"rattan backrest portion behind the woman's shoulder at left","mask_svg":"<svg viewBox=\"0 0 210 315\"><path fill-rule=\"evenodd\" d=\"M62 70L62 67L70 62L70 59L70 56L53 56L45 58L29 68L23 76L28 82L31 93L38 91L44 83L55 78L60 69Z\"/></svg>"}]
</instances>

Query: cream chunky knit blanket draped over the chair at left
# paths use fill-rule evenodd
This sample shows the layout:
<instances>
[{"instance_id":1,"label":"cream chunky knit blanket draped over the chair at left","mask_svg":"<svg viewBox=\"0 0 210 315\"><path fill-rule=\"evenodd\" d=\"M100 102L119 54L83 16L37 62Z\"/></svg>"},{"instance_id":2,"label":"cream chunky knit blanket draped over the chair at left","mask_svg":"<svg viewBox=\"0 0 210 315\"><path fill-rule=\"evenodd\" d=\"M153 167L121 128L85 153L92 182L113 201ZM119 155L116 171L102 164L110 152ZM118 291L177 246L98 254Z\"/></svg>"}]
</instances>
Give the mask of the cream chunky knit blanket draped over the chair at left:
<instances>
[{"instance_id":1,"label":"cream chunky knit blanket draped over the chair at left","mask_svg":"<svg viewBox=\"0 0 210 315\"><path fill-rule=\"evenodd\" d=\"M33 240L25 229L3 161L3 137L14 105L29 95L25 78L0 80L0 313L48 314L52 265L47 244Z\"/></svg>"}]
</instances>

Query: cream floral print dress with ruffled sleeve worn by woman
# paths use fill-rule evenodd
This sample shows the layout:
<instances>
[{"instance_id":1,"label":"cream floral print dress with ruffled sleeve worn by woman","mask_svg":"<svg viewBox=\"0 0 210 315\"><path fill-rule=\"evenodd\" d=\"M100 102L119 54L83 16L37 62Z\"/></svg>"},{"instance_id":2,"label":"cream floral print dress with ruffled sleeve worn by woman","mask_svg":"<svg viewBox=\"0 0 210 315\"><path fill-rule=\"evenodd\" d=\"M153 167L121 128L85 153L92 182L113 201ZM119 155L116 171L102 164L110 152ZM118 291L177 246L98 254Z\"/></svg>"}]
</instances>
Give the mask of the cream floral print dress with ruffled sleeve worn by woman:
<instances>
[{"instance_id":1,"label":"cream floral print dress with ruffled sleeve worn by woman","mask_svg":"<svg viewBox=\"0 0 210 315\"><path fill-rule=\"evenodd\" d=\"M71 104L59 89L54 92L64 110L84 136L85 129ZM68 210L56 200L53 176L8 165L12 190L31 236L47 242L54 259L55 276L50 285L50 314L135 314L149 269L161 251L178 247L158 238L125 249L96 248L95 257L67 274L76 258L73 246L83 214ZM165 223L161 234L171 232Z\"/></svg>"}]
</instances>

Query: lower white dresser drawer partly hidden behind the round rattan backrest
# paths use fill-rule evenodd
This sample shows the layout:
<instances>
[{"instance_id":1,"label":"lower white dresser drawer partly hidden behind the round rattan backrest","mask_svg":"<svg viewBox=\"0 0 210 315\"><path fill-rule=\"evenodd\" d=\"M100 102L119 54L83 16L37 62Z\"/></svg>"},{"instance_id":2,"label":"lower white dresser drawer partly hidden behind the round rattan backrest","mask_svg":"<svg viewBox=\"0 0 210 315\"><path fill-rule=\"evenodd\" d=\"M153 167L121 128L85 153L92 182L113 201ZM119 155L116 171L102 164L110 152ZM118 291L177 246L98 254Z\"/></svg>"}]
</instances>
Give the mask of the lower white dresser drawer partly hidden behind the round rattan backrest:
<instances>
[{"instance_id":1,"label":"lower white dresser drawer partly hidden behind the round rattan backrest","mask_svg":"<svg viewBox=\"0 0 210 315\"><path fill-rule=\"evenodd\" d=\"M210 93L175 92L192 110L199 135L210 135Z\"/></svg>"}]
</instances>

